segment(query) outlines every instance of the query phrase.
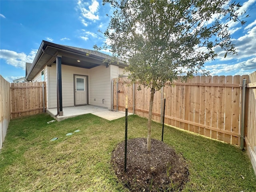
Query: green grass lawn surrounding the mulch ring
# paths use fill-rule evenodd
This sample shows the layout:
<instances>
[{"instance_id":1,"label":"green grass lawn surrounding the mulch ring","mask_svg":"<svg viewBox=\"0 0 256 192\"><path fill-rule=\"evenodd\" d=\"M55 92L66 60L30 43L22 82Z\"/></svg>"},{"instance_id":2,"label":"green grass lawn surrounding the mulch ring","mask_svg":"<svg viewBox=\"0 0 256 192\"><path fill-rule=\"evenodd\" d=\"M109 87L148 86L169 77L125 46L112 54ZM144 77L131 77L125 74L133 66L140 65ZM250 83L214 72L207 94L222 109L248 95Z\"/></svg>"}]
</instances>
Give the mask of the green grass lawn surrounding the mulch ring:
<instances>
[{"instance_id":1,"label":"green grass lawn surrounding the mulch ring","mask_svg":"<svg viewBox=\"0 0 256 192\"><path fill-rule=\"evenodd\" d=\"M0 151L1 192L127 191L110 164L112 150L124 140L125 118L86 114L47 124L50 120L39 114L10 121ZM146 137L146 124L145 118L129 116L128 138ZM161 132L162 125L153 122L152 138L161 140ZM188 163L183 192L256 192L256 176L240 148L168 126L164 142Z\"/></svg>"}]
</instances>

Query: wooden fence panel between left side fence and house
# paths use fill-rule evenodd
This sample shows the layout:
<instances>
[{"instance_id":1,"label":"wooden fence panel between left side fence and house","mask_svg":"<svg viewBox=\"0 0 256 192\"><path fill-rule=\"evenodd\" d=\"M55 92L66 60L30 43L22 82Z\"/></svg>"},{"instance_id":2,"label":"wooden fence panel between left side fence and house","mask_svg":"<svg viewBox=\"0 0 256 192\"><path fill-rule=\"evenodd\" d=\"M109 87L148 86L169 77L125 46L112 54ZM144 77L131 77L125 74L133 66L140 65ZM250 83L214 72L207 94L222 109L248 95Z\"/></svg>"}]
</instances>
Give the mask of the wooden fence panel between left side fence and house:
<instances>
[{"instance_id":1,"label":"wooden fence panel between left side fence and house","mask_svg":"<svg viewBox=\"0 0 256 192\"><path fill-rule=\"evenodd\" d=\"M42 84L44 83L44 95ZM46 83L11 83L11 118L42 113L46 108Z\"/></svg>"}]
</instances>

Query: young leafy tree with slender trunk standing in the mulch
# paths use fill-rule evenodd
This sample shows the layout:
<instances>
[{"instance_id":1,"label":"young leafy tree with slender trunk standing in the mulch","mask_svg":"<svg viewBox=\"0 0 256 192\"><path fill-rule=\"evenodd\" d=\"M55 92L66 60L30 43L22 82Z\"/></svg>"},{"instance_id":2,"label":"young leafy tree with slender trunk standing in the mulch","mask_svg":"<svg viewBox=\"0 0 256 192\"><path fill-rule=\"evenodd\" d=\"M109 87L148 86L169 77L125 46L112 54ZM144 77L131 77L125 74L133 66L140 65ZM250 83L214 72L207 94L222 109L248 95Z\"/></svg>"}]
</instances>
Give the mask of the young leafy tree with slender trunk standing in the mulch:
<instances>
[{"instance_id":1,"label":"young leafy tree with slender trunk standing in the mulch","mask_svg":"<svg viewBox=\"0 0 256 192\"><path fill-rule=\"evenodd\" d=\"M151 120L154 93L167 81L182 80L204 70L204 63L214 60L220 47L226 54L236 54L228 24L240 22L239 3L229 0L104 0L114 8L104 32L108 39L102 47L129 63L128 78L150 88L147 150L151 151ZM248 17L245 16L245 17Z\"/></svg>"}]
</instances>

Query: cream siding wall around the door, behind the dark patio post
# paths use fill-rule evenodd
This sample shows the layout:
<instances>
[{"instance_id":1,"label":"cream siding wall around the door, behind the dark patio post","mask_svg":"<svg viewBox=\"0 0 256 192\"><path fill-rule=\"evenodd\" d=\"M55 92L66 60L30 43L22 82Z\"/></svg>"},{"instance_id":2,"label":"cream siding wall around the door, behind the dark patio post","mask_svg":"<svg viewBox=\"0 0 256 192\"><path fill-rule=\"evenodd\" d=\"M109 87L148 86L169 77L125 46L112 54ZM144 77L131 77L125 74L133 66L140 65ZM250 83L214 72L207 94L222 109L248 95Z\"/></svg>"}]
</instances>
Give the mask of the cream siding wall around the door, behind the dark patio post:
<instances>
[{"instance_id":1,"label":"cream siding wall around the door, behind the dark patio post","mask_svg":"<svg viewBox=\"0 0 256 192\"><path fill-rule=\"evenodd\" d=\"M56 91L56 64L52 64L52 67L49 67L49 108L57 107L57 91ZM88 75L89 70L84 68L78 68L68 65L61 66L62 71L62 106L74 106L74 74L78 75ZM89 76L90 82L90 76ZM89 83L90 90L90 83ZM90 100L90 92L89 92L89 100Z\"/></svg>"}]
</instances>

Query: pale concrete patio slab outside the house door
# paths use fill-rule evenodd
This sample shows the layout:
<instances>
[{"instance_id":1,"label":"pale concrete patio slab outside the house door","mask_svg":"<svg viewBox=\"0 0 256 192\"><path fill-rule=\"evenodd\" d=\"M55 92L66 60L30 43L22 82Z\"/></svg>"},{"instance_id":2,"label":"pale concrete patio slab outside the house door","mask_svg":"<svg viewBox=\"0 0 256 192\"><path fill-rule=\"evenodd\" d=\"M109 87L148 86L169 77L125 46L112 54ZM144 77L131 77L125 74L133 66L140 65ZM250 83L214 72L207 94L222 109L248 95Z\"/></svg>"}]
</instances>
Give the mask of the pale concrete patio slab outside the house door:
<instances>
[{"instance_id":1,"label":"pale concrete patio slab outside the house door","mask_svg":"<svg viewBox=\"0 0 256 192\"><path fill-rule=\"evenodd\" d=\"M63 116L57 116L57 108L50 108L46 109L46 112L50 114L54 119L57 121L62 121L67 118L75 117L82 114L94 114L96 116L99 116L101 118L107 119L107 120L114 120L125 116L125 112L116 112L108 110L107 108L102 108L98 106L93 105L86 105L86 106L72 106L72 107L63 107ZM130 115L130 113L128 113Z\"/></svg>"}]
</instances>

